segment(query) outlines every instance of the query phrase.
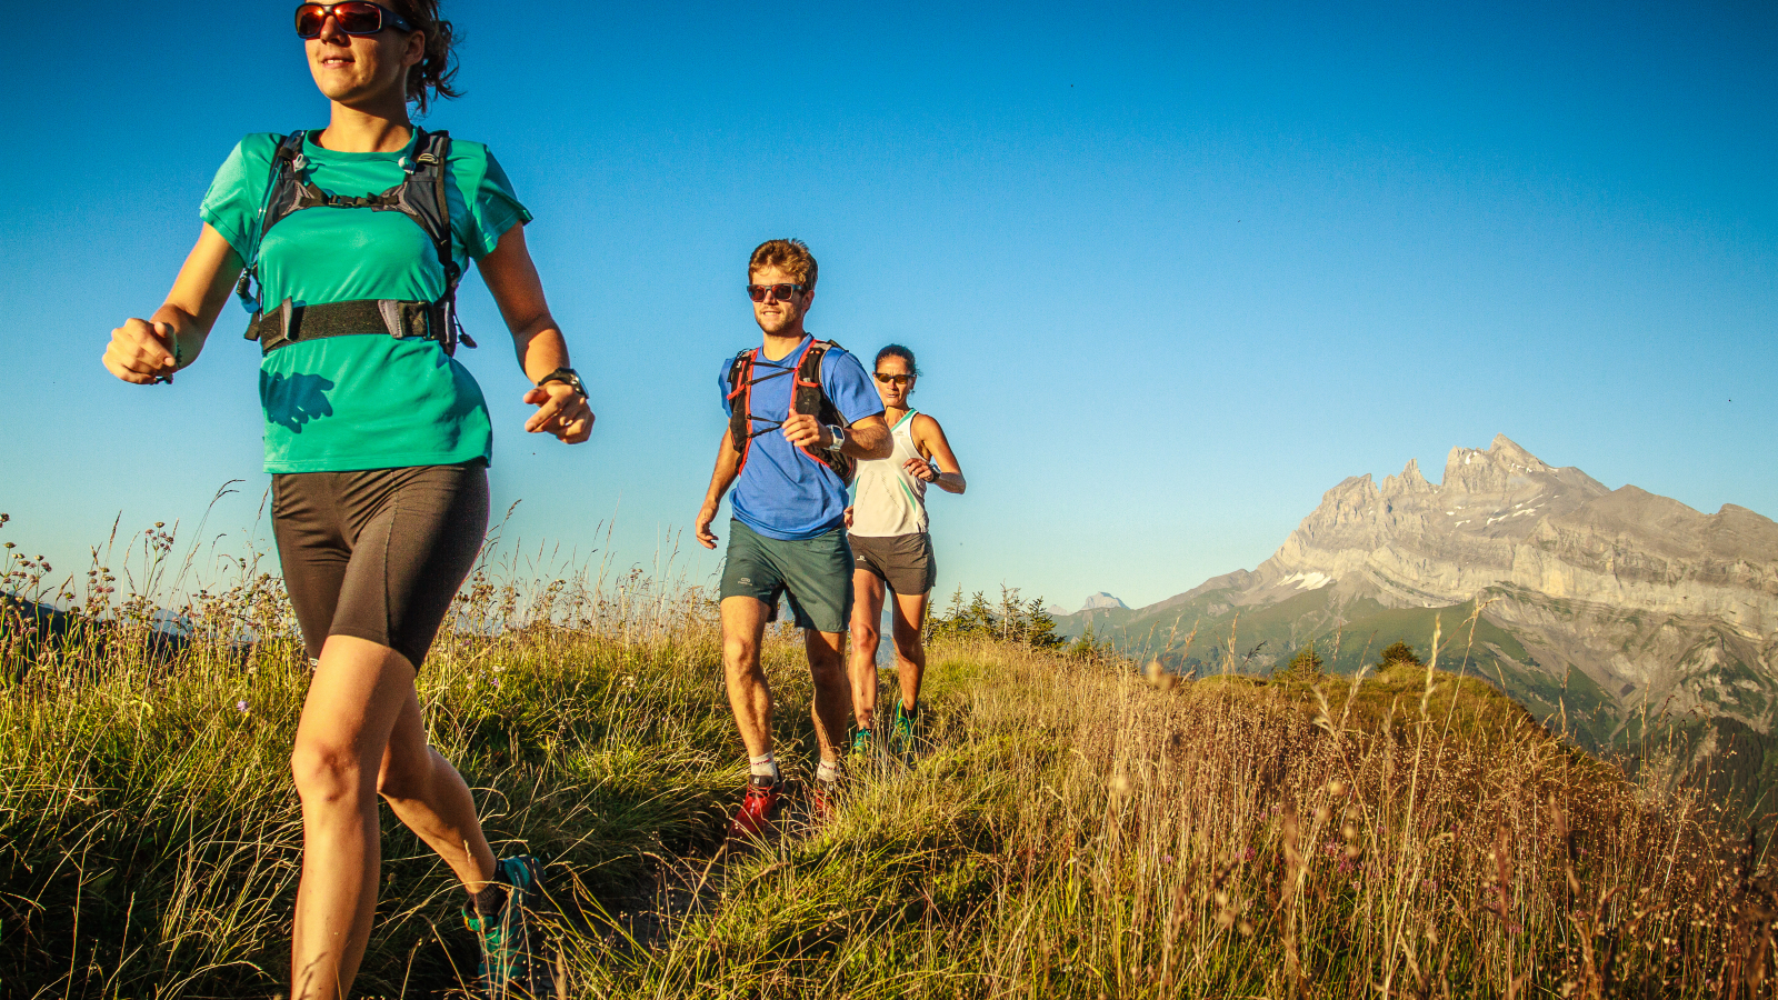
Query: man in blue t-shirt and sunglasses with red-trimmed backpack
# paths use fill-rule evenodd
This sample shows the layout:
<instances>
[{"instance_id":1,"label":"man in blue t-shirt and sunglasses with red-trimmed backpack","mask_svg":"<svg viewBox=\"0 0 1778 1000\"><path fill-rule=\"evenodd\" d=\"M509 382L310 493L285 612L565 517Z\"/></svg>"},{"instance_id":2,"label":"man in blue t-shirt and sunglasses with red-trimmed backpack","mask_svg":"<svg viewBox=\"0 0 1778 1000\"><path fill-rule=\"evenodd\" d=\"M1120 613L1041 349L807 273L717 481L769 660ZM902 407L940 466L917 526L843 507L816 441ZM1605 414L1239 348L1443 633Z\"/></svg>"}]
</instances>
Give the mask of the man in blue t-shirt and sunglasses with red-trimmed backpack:
<instances>
[{"instance_id":1,"label":"man in blue t-shirt and sunglasses with red-trimmed backpack","mask_svg":"<svg viewBox=\"0 0 1778 1000\"><path fill-rule=\"evenodd\" d=\"M852 706L843 660L852 616L852 548L845 528L846 480L836 466L850 470L857 459L885 459L893 448L882 399L864 365L804 331L816 281L809 247L802 240L766 240L747 262L747 278L765 343L722 361L718 388L729 429L697 512L697 541L717 548L709 525L734 486L722 569L722 665L750 778L729 827L733 836L770 827L782 783L772 756L772 690L759 667L759 641L784 594L804 630L814 678L814 731L821 744L816 806L830 799ZM802 383L800 409L818 409L832 422L797 413L793 406L798 367L811 352L820 352L820 377ZM816 381L820 406L809 406Z\"/></svg>"}]
</instances>

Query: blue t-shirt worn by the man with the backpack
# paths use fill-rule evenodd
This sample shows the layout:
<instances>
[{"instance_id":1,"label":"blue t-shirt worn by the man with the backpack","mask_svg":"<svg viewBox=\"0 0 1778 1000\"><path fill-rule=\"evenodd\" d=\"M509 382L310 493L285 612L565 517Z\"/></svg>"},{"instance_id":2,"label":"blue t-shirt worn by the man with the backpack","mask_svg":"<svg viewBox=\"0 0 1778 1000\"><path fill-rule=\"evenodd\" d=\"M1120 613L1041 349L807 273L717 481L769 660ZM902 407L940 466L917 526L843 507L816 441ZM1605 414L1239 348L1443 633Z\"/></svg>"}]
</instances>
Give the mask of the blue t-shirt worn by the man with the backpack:
<instances>
[{"instance_id":1,"label":"blue t-shirt worn by the man with the backpack","mask_svg":"<svg viewBox=\"0 0 1778 1000\"><path fill-rule=\"evenodd\" d=\"M846 484L834 470L797 450L775 427L789 418L791 383L797 381L797 359L809 345L807 336L795 351L768 361L765 352L754 359L752 402L747 407L752 429L765 431L754 438L747 464L734 484L734 516L756 532L782 541L818 537L845 523ZM722 411L729 406L729 368L734 356L722 359L717 374L717 391ZM777 372L784 372L779 375ZM857 358L837 347L821 356L821 388L846 423L884 411L884 400L871 386L869 374Z\"/></svg>"}]
</instances>

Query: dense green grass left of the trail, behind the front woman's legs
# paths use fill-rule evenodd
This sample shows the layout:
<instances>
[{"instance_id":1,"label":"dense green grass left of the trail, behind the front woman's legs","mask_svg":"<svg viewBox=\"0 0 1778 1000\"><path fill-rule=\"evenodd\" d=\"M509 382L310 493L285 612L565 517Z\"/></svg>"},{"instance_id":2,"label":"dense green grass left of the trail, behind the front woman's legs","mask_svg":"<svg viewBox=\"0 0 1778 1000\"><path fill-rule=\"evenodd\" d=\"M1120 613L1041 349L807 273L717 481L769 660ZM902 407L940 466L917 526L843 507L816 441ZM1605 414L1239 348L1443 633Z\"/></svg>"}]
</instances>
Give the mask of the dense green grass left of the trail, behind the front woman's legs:
<instances>
[{"instance_id":1,"label":"dense green grass left of the trail, behind the front woman's legs","mask_svg":"<svg viewBox=\"0 0 1778 1000\"><path fill-rule=\"evenodd\" d=\"M430 737L478 788L496 851L544 854L619 902L649 891L653 858L717 842L733 737L720 674L701 669L715 646L692 635L443 644L420 678ZM284 975L300 838L288 754L308 671L292 642L245 662L208 653L158 665L114 646L101 669L41 664L0 690L11 996L270 995ZM361 989L455 982L466 941L448 872L393 820L384 835Z\"/></svg>"}]
</instances>

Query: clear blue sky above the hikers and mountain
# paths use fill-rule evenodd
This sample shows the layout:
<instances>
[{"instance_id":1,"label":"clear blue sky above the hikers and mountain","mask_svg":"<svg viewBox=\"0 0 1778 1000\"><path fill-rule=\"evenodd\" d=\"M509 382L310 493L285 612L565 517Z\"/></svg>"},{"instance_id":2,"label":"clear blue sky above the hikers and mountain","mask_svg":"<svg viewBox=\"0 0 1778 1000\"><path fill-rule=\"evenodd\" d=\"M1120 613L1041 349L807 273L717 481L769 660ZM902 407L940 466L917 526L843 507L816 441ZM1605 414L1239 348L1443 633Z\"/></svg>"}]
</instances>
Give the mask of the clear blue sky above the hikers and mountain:
<instances>
[{"instance_id":1,"label":"clear blue sky above the hikers and mountain","mask_svg":"<svg viewBox=\"0 0 1778 1000\"><path fill-rule=\"evenodd\" d=\"M1321 493L1504 432L1607 486L1778 516L1778 9L446 4L461 85L599 423L521 432L485 290L466 363L509 537L649 564L757 340L763 238L809 326L914 347L965 496L939 589L1133 605L1271 553ZM124 528L249 532L256 345L98 365L162 301L247 132L322 126L281 4L9 12L0 537L80 573ZM41 18L41 21L39 21ZM670 541L667 543L670 548ZM702 582L717 557L692 543ZM594 557L599 559L599 557Z\"/></svg>"}]
</instances>

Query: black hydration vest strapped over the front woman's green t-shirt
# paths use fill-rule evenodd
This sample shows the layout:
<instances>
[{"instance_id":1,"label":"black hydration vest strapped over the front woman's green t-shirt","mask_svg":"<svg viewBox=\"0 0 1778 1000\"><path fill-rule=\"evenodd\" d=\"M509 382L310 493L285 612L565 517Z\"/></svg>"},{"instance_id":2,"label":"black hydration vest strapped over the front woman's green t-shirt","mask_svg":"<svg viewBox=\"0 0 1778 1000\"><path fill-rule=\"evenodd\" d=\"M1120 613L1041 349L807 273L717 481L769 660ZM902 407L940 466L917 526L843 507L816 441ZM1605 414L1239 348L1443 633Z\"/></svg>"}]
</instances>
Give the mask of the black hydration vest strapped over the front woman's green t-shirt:
<instances>
[{"instance_id":1,"label":"black hydration vest strapped over the front woman's green t-shirt","mask_svg":"<svg viewBox=\"0 0 1778 1000\"><path fill-rule=\"evenodd\" d=\"M258 235L252 240L251 260L235 285L252 320L247 324L247 340L258 340L265 354L288 343L318 340L324 336L347 336L366 333L388 333L395 338L437 340L444 354L457 352L457 342L475 347L457 322L457 283L462 269L452 256L450 201L444 198L444 164L450 160L450 133L414 130L414 157L402 158L402 183L382 194L347 198L327 194L308 180L308 157L302 155L306 132L292 132L277 144L272 157L272 176L265 189L265 201L260 205ZM400 212L420 226L432 249L439 254L444 269L444 294L432 302L402 299L352 299L347 302L325 302L318 306L297 306L288 297L272 311L265 308L265 286L260 285L260 244L265 233L292 212L304 208L370 208L372 212ZM258 285L256 292L249 286Z\"/></svg>"}]
</instances>

